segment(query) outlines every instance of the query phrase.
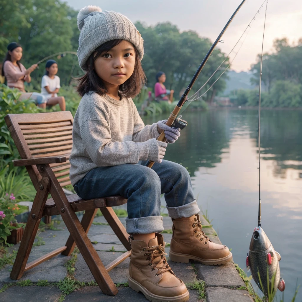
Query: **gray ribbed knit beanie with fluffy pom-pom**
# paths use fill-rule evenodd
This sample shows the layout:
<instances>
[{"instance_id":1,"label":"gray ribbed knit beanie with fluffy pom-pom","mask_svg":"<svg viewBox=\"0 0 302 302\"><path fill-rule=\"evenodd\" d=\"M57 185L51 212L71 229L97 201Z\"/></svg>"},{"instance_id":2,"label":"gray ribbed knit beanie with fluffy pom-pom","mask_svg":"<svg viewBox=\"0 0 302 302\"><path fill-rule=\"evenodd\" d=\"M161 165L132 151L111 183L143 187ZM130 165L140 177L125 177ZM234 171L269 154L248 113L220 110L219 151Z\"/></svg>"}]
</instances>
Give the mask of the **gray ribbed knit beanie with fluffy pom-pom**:
<instances>
[{"instance_id":1,"label":"gray ribbed knit beanie with fluffy pom-pom","mask_svg":"<svg viewBox=\"0 0 302 302\"><path fill-rule=\"evenodd\" d=\"M88 5L79 11L77 19L81 31L77 54L79 64L84 71L88 69L87 60L96 48L115 39L131 42L140 60L143 59L143 38L134 24L124 15L115 11L102 11L98 6Z\"/></svg>"}]
</instances>

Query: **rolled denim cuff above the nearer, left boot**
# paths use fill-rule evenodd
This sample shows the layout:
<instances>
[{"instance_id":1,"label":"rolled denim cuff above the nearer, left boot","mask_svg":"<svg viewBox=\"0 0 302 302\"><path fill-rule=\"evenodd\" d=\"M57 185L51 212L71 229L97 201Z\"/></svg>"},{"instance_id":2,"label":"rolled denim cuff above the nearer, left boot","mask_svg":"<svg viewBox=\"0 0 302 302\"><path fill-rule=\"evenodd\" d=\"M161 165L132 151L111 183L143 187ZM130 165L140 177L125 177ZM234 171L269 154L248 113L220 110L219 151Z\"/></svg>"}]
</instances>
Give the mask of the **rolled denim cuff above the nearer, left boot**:
<instances>
[{"instance_id":1,"label":"rolled denim cuff above the nearer, left boot","mask_svg":"<svg viewBox=\"0 0 302 302\"><path fill-rule=\"evenodd\" d=\"M130 235L159 233L164 230L162 216L126 218L126 230Z\"/></svg>"}]
</instances>

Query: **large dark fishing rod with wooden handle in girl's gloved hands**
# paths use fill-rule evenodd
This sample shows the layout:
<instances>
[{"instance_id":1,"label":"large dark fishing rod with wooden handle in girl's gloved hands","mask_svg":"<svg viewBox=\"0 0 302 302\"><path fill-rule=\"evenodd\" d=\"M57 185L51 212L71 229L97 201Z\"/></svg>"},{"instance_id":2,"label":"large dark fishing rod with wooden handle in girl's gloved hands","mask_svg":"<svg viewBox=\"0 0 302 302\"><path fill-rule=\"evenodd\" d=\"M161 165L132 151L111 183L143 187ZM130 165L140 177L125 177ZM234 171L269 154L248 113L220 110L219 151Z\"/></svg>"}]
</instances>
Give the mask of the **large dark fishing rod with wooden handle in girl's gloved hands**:
<instances>
[{"instance_id":1,"label":"large dark fishing rod with wooden handle in girl's gloved hands","mask_svg":"<svg viewBox=\"0 0 302 302\"><path fill-rule=\"evenodd\" d=\"M236 10L234 11L233 15L231 16L231 18L229 19L229 21L226 23L226 25L223 27L223 30L221 31L221 33L218 35L217 39L215 40L215 42L213 43L213 45L211 46L210 50L207 52L206 56L204 57L203 61L201 62L200 66L198 67L197 71L195 72L193 78L191 79L190 84L188 85L187 89L185 90L185 92L183 93L182 97L180 98L180 100L178 101L178 104L175 106L174 110L171 112L168 120L166 121L166 125L167 126L173 126L173 127L178 127L180 129L183 129L188 123L186 121L181 120L180 118L178 118L176 121L176 117L180 111L180 109L182 108L182 106L185 104L185 102L188 100L188 94L190 92L190 90L192 89L195 81L197 80L201 70L204 68L204 65L207 63L207 60L209 59L210 55L213 53L215 47L217 46L218 42L221 41L221 37L223 36L223 34L225 33L225 31L227 30L227 28L229 27L230 23L233 21L233 18L236 16L236 14L238 13L239 9L243 6L243 4L246 2L246 0L243 0L240 5L236 8ZM174 125L172 125L174 124ZM164 141L165 140L165 133L164 131L162 131L162 133L159 135L158 139L160 141ZM146 166L149 168L152 168L154 162L153 161L148 161Z\"/></svg>"}]
</instances>

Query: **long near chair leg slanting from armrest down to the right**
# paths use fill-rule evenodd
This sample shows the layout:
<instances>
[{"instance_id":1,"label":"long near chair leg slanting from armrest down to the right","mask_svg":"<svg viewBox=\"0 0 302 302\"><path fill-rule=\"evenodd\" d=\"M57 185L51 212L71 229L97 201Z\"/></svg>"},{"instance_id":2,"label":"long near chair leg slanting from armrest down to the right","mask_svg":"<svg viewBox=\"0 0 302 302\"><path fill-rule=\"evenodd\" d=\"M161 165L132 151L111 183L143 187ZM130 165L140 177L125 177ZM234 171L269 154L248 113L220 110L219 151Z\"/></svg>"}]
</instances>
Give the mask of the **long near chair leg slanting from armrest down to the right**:
<instances>
[{"instance_id":1,"label":"long near chair leg slanting from armrest down to the right","mask_svg":"<svg viewBox=\"0 0 302 302\"><path fill-rule=\"evenodd\" d=\"M56 207L61 210L62 219L73 237L79 251L81 252L85 262L88 265L95 281L98 283L99 288L106 295L114 296L118 290L111 280L106 268L104 267L101 259L88 239L83 226L81 225L76 213L69 204L66 195L64 194L61 186L59 185L56 176L54 175L50 166L37 165L38 170L42 176L48 177L51 181L50 194ZM41 169L42 168L42 169Z\"/></svg>"}]
</instances>

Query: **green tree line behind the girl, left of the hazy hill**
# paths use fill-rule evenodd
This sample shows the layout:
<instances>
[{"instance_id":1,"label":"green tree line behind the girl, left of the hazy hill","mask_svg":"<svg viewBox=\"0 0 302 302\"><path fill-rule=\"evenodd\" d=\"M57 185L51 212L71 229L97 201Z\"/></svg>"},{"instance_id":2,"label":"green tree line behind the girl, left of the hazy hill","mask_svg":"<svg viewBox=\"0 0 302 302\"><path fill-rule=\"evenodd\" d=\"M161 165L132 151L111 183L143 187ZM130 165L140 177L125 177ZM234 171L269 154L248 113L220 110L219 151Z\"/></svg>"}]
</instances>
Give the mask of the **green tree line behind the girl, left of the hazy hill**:
<instances>
[{"instance_id":1,"label":"green tree line behind the girl, left of the hazy hill","mask_svg":"<svg viewBox=\"0 0 302 302\"><path fill-rule=\"evenodd\" d=\"M69 7L66 2L54 0L2 0L0 2L2 18L0 19L0 60L6 53L8 43L16 41L23 47L21 62L25 67L38 62L46 56L63 51L76 51L78 48L79 29L76 24L78 11ZM180 32L167 22L156 26L147 26L137 22L137 29L143 36L145 55L142 60L147 76L147 86L154 87L155 75L158 71L166 74L165 86L175 90L175 98L187 87L191 77L211 46L211 41L201 38L194 31ZM195 91L204 84L216 70L226 55L219 49L214 50L208 63L195 83ZM75 55L66 54L58 61L58 76L63 85L70 85L73 79L82 75L78 59ZM227 66L228 58L221 67ZM33 88L40 89L45 62L32 73ZM224 67L224 68L223 68ZM218 76L218 75L217 75ZM211 101L214 96L225 89L224 74L209 90L206 99ZM214 76L207 89L217 79Z\"/></svg>"}]
</instances>

